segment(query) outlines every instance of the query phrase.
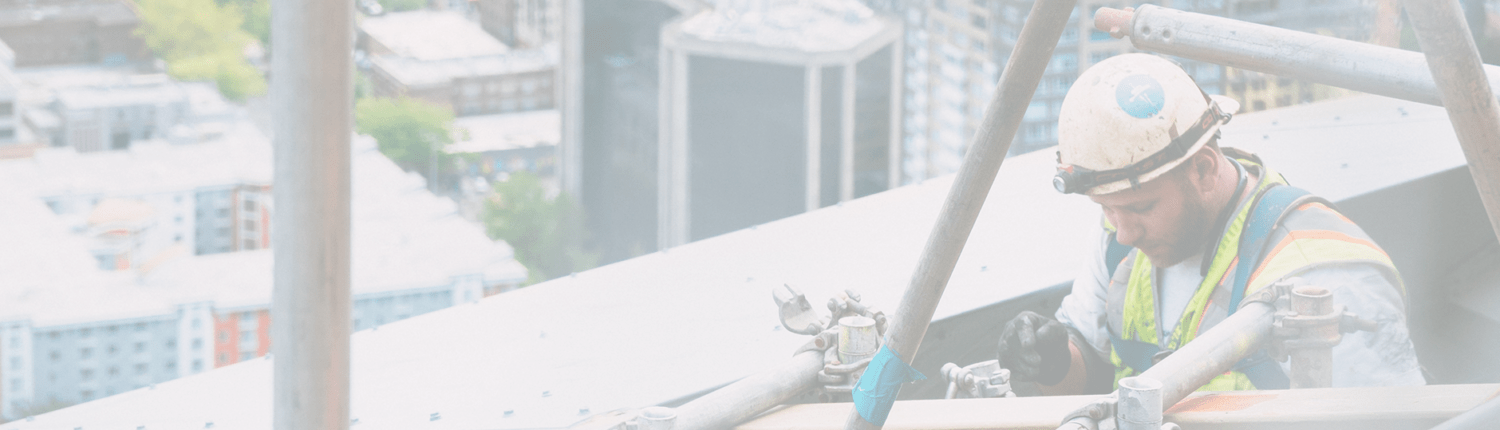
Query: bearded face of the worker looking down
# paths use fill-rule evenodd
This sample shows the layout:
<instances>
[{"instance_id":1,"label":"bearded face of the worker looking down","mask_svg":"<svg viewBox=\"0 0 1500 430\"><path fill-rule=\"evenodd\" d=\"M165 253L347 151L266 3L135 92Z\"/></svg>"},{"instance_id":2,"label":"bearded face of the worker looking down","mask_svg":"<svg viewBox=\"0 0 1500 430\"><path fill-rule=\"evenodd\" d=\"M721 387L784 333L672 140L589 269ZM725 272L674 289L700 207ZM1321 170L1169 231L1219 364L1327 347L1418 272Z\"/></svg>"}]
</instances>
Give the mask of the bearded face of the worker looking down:
<instances>
[{"instance_id":1,"label":"bearded face of the worker looking down","mask_svg":"<svg viewBox=\"0 0 1500 430\"><path fill-rule=\"evenodd\" d=\"M1179 264L1203 249L1214 223L1200 177L1186 162L1137 189L1089 196L1114 225L1114 240L1146 253L1156 267Z\"/></svg>"}]
</instances>

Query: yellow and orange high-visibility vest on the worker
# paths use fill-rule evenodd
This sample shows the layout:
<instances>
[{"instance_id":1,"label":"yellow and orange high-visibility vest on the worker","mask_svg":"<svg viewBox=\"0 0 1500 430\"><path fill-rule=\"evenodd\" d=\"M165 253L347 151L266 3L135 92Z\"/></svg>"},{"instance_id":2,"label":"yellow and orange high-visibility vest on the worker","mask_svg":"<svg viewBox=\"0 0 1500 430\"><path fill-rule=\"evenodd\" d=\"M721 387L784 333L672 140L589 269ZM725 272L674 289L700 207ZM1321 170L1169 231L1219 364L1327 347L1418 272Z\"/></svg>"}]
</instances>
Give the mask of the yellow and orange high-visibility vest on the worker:
<instances>
[{"instance_id":1,"label":"yellow and orange high-visibility vest on the worker","mask_svg":"<svg viewBox=\"0 0 1500 430\"><path fill-rule=\"evenodd\" d=\"M1287 186L1286 178L1263 168L1258 157L1232 148L1226 153L1246 168L1260 168L1260 180L1250 187L1252 196L1234 208L1218 246L1206 256L1210 258L1208 276L1164 342L1156 324L1155 267L1146 255L1116 243L1113 226L1104 223L1110 234L1110 250L1106 252L1106 267L1112 271L1107 322L1116 387L1122 378L1149 369L1155 352L1176 351L1228 318L1240 304L1239 298L1316 267L1366 264L1378 268L1406 295L1390 256L1348 217L1329 202ZM1245 268L1240 268L1242 262ZM1286 381L1281 367L1262 351L1198 390L1275 390L1286 388Z\"/></svg>"}]
</instances>

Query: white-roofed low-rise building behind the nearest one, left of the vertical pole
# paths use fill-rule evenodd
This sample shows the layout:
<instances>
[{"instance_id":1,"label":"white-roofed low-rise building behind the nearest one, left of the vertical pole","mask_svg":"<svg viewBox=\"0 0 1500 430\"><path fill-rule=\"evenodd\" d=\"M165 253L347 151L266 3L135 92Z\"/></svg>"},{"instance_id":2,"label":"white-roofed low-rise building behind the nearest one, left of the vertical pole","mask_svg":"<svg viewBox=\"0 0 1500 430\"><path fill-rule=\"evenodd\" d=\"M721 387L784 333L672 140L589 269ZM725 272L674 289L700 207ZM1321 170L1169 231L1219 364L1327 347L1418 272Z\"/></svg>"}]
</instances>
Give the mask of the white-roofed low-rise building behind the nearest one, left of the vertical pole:
<instances>
[{"instance_id":1,"label":"white-roofed low-rise building behind the nearest one, left of the vertical pole","mask_svg":"<svg viewBox=\"0 0 1500 430\"><path fill-rule=\"evenodd\" d=\"M174 247L192 255L267 247L272 168L264 139L242 121L230 136L195 145L156 139L120 151L46 148L0 162L0 178L75 229L118 217L111 211L126 205L110 208L111 201L148 207L152 222L130 229L144 247L96 253L99 267L134 268Z\"/></svg>"}]
</instances>

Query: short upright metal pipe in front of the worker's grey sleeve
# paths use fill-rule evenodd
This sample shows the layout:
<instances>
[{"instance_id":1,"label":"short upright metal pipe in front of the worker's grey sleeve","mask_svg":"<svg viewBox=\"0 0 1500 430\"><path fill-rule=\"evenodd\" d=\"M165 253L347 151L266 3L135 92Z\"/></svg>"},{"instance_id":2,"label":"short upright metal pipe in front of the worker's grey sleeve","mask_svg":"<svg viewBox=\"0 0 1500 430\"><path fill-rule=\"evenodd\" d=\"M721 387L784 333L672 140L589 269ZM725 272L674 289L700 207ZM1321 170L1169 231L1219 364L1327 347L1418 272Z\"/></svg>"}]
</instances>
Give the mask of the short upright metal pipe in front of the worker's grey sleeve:
<instances>
[{"instance_id":1,"label":"short upright metal pipe in front of the worker's grey sleeve","mask_svg":"<svg viewBox=\"0 0 1500 430\"><path fill-rule=\"evenodd\" d=\"M1334 346L1342 339L1338 318L1334 312L1334 294L1323 288L1302 286L1292 291L1292 310L1296 319L1324 321L1298 327L1299 339L1288 340L1287 355L1292 357L1292 388L1334 387ZM1287 322L1287 321L1282 321Z\"/></svg>"}]
</instances>

